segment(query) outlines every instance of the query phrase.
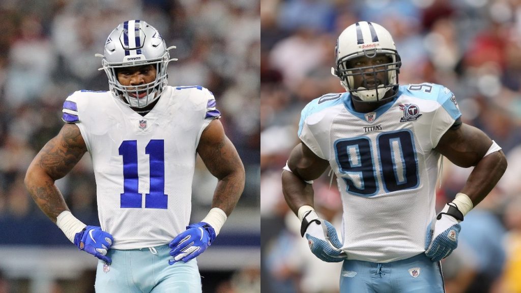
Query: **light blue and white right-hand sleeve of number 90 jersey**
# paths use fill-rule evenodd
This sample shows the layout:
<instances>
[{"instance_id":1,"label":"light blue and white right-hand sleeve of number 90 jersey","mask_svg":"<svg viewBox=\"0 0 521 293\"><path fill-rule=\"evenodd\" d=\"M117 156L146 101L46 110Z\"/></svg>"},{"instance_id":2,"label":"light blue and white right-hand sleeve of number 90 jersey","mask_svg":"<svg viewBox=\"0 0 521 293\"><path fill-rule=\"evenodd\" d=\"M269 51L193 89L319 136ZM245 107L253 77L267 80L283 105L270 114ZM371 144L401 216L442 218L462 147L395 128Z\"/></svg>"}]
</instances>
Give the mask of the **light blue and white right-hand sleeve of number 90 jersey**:
<instances>
[{"instance_id":1,"label":"light blue and white right-hand sleeve of number 90 jersey","mask_svg":"<svg viewBox=\"0 0 521 293\"><path fill-rule=\"evenodd\" d=\"M448 88L440 89L438 92L438 103L440 106L433 117L430 131L433 148L436 148L445 132L461 117L456 97Z\"/></svg>"}]
</instances>

